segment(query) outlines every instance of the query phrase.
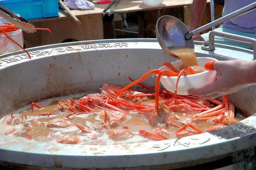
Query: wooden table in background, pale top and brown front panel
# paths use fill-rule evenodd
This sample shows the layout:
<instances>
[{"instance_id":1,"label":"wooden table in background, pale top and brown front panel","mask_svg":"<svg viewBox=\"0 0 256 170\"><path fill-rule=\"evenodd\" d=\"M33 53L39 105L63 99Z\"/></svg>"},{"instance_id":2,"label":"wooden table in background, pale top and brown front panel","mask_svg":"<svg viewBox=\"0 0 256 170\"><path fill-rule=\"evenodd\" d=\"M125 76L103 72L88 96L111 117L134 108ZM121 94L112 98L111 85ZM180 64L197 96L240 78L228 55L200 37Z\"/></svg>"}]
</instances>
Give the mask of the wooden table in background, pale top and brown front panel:
<instances>
[{"instance_id":1,"label":"wooden table in background, pale top and brown front panel","mask_svg":"<svg viewBox=\"0 0 256 170\"><path fill-rule=\"evenodd\" d=\"M210 2L210 0L208 1ZM191 4L192 0L164 0L160 5L148 6L139 0L120 0L114 13L183 7ZM94 10L71 10L81 21L82 25L77 25L68 13L62 9L59 10L59 17L30 20L37 28L49 28L52 30L52 33L49 34L46 31L37 31L32 34L23 33L26 48L57 44L65 39L76 39L79 41L104 39L102 11L107 5L95 4ZM185 15L187 18L188 14L189 12L186 11Z\"/></svg>"}]
</instances>

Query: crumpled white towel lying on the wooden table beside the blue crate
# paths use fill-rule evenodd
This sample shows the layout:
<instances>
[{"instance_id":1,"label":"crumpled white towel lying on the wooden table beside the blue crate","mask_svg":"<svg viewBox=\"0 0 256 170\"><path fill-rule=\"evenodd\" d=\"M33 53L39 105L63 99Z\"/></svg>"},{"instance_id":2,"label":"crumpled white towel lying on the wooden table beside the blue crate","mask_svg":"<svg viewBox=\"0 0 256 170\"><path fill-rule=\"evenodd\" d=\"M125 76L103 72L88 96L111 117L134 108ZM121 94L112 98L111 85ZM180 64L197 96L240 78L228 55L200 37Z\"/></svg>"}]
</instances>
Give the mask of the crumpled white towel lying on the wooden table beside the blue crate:
<instances>
[{"instance_id":1,"label":"crumpled white towel lying on the wooden table beside the blue crate","mask_svg":"<svg viewBox=\"0 0 256 170\"><path fill-rule=\"evenodd\" d=\"M70 9L93 10L95 5L86 0L64 0L64 4Z\"/></svg>"}]
</instances>

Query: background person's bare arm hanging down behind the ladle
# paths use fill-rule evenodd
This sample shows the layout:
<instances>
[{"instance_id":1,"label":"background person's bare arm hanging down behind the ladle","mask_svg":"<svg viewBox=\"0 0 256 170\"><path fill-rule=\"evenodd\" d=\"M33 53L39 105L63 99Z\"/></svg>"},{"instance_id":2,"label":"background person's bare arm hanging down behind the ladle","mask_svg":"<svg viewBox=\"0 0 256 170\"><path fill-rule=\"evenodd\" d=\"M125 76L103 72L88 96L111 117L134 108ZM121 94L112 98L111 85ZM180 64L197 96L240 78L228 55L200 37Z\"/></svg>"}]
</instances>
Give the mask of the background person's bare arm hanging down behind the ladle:
<instances>
[{"instance_id":1,"label":"background person's bare arm hanging down behind the ladle","mask_svg":"<svg viewBox=\"0 0 256 170\"><path fill-rule=\"evenodd\" d=\"M200 23L203 17L204 9L206 7L207 0L193 0L191 5L191 14L189 20L189 31L193 31L200 27ZM193 37L194 40L203 41L203 37L196 35Z\"/></svg>"}]
</instances>

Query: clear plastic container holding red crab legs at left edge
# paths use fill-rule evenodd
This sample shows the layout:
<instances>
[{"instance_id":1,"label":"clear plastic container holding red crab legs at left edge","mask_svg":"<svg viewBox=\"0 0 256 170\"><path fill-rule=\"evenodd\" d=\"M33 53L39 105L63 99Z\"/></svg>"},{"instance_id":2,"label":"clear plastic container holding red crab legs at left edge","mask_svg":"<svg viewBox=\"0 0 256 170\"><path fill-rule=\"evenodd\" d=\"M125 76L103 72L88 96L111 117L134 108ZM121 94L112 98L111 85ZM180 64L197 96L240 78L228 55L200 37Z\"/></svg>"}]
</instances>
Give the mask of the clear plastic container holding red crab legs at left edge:
<instances>
[{"instance_id":1,"label":"clear plastic container holding red crab legs at left edge","mask_svg":"<svg viewBox=\"0 0 256 170\"><path fill-rule=\"evenodd\" d=\"M5 19L0 18L0 24L2 22L9 23ZM20 44L20 46L23 47L24 41L23 41L23 34L21 29L13 32L6 32L6 34L9 35L11 39L16 41L18 44ZM19 50L21 50L21 48L17 44L12 42L2 32L0 32L0 54L10 53L10 52L19 51Z\"/></svg>"}]
</instances>

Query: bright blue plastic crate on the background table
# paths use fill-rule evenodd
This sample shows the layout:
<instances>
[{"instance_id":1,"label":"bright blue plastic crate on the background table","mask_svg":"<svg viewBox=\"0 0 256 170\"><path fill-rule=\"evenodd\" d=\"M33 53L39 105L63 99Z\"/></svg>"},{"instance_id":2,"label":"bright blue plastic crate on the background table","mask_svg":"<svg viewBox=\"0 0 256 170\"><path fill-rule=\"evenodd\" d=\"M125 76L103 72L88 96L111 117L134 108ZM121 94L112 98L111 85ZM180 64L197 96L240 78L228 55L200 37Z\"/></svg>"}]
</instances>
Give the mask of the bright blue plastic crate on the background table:
<instances>
[{"instance_id":1,"label":"bright blue plastic crate on the background table","mask_svg":"<svg viewBox=\"0 0 256 170\"><path fill-rule=\"evenodd\" d=\"M25 19L59 16L58 0L6 0L0 4Z\"/></svg>"}]
</instances>

